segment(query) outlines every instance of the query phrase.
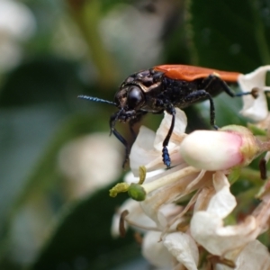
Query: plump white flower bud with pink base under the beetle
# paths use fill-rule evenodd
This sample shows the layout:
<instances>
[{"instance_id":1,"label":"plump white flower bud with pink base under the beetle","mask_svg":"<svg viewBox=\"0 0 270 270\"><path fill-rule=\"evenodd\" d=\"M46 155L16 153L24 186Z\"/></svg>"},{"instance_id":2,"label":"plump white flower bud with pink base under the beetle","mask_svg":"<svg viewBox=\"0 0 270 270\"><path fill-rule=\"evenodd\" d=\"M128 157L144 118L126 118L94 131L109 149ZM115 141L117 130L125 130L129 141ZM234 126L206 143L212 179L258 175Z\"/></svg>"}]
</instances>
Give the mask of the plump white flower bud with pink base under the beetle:
<instances>
[{"instance_id":1,"label":"plump white flower bud with pink base under the beetle","mask_svg":"<svg viewBox=\"0 0 270 270\"><path fill-rule=\"evenodd\" d=\"M180 147L180 154L186 163L211 171L247 165L257 157L258 152L257 139L253 134L235 125L218 131L193 131Z\"/></svg>"}]
</instances>

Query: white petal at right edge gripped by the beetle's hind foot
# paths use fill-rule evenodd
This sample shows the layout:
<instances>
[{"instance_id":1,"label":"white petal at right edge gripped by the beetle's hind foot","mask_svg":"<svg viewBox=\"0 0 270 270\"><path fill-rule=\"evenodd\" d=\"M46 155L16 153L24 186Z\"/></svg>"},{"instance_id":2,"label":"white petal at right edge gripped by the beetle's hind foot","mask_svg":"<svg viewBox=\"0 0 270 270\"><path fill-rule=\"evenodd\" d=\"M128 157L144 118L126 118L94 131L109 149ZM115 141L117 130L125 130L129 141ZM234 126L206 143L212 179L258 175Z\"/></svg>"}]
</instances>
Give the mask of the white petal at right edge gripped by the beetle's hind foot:
<instances>
[{"instance_id":1,"label":"white petal at right edge gripped by the beetle's hind foot","mask_svg":"<svg viewBox=\"0 0 270 270\"><path fill-rule=\"evenodd\" d=\"M270 66L258 67L255 71L247 75L238 76L238 84L243 92L250 92L254 87L264 89L266 86L266 73L270 71ZM254 121L262 121L268 114L266 94L258 92L258 97L252 95L243 96L243 109L240 112L245 117Z\"/></svg>"}]
</instances>

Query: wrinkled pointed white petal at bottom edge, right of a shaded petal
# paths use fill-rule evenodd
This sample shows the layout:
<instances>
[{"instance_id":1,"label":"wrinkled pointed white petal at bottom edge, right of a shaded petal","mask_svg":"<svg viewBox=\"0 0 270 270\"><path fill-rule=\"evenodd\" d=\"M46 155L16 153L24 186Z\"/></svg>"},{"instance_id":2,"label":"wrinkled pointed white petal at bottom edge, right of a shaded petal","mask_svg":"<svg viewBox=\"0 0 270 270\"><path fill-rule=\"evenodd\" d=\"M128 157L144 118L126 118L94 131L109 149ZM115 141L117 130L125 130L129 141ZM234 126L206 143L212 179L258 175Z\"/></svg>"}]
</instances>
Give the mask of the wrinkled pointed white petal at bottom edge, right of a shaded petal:
<instances>
[{"instance_id":1,"label":"wrinkled pointed white petal at bottom edge, right of a shaded petal","mask_svg":"<svg viewBox=\"0 0 270 270\"><path fill-rule=\"evenodd\" d=\"M183 232L174 232L166 235L164 245L188 270L197 270L199 262L198 247L189 235Z\"/></svg>"}]
</instances>

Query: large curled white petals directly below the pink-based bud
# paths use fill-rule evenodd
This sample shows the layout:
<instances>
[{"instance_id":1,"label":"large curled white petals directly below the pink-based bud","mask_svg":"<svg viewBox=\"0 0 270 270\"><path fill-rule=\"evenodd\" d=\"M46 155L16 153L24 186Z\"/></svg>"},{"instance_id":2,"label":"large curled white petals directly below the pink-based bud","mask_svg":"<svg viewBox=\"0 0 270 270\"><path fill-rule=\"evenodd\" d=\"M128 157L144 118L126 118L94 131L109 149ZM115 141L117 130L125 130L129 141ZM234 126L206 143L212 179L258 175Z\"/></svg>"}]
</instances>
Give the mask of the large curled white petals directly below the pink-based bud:
<instances>
[{"instance_id":1,"label":"large curled white petals directly below the pink-based bud","mask_svg":"<svg viewBox=\"0 0 270 270\"><path fill-rule=\"evenodd\" d=\"M253 233L258 230L255 219L247 220L240 225L223 227L222 219L229 215L237 202L229 191L227 177L221 172L213 175L213 190L208 191L207 188L205 188L206 192L202 190L202 193L211 196L211 199L204 199L209 200L206 211L196 211L193 214L191 233L202 247L214 255L221 256L253 240L255 237Z\"/></svg>"}]
</instances>

